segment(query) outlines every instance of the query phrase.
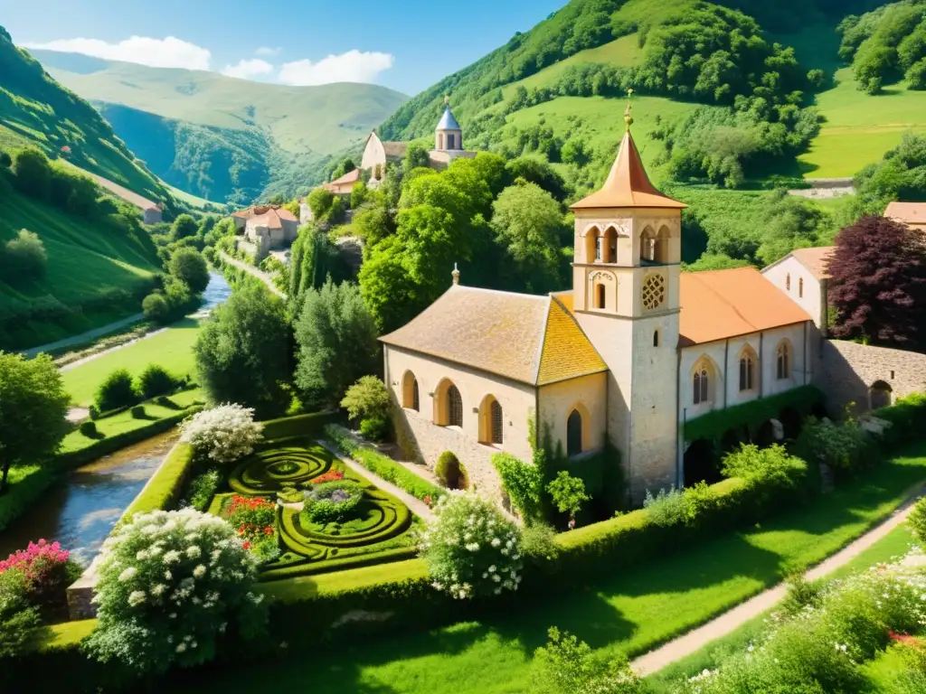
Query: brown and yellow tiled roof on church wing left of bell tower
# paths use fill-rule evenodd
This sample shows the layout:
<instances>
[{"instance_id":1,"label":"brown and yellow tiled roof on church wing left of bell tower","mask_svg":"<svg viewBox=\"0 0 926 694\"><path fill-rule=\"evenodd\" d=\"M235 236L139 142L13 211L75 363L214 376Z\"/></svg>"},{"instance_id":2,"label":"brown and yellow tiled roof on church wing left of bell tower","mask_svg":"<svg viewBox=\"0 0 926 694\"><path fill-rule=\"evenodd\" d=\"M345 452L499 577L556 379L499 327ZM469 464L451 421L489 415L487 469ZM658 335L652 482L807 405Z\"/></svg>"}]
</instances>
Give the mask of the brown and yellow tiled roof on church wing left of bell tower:
<instances>
[{"instance_id":1,"label":"brown and yellow tiled roof on church wing left of bell tower","mask_svg":"<svg viewBox=\"0 0 926 694\"><path fill-rule=\"evenodd\" d=\"M380 340L532 385L606 369L575 320L549 296L454 285Z\"/></svg>"}]
</instances>

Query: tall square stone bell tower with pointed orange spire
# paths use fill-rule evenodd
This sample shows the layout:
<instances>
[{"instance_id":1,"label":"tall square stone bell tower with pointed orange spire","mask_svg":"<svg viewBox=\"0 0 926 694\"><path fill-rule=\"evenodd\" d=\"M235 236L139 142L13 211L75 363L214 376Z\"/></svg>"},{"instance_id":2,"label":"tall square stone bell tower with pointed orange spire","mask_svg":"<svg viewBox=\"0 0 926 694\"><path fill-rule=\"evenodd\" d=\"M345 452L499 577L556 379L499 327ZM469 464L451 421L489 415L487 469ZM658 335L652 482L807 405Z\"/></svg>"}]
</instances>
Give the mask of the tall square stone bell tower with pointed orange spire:
<instances>
[{"instance_id":1,"label":"tall square stone bell tower with pointed orange spire","mask_svg":"<svg viewBox=\"0 0 926 694\"><path fill-rule=\"evenodd\" d=\"M679 486L679 273L685 204L650 182L626 131L601 190L572 205L573 311L609 369L607 434L632 502Z\"/></svg>"}]
</instances>

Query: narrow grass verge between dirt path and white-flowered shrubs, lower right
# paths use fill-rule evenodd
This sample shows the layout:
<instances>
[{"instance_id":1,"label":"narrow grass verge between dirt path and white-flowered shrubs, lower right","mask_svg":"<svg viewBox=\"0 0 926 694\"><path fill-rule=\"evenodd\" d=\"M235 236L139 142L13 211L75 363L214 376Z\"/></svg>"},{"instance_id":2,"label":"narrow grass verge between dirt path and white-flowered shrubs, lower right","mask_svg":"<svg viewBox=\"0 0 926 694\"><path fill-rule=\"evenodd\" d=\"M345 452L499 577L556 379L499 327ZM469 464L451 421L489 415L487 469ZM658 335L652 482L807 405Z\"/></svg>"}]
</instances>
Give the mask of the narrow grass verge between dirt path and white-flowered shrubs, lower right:
<instances>
[{"instance_id":1,"label":"narrow grass verge between dirt path and white-flowered shrubs, lower right","mask_svg":"<svg viewBox=\"0 0 926 694\"><path fill-rule=\"evenodd\" d=\"M860 571L867 571L870 566L889 562L907 553L913 546L913 535L907 527L896 527L887 536L878 540L871 547L860 553L855 559L840 569L832 572L827 579L842 578ZM703 670L713 670L732 653L743 651L750 643L757 642L765 630L765 620L769 613L751 619L743 626L723 638L711 641L700 651L695 651L687 658L660 670L646 678L653 694L669 691L670 686L682 677L697 675Z\"/></svg>"}]
</instances>

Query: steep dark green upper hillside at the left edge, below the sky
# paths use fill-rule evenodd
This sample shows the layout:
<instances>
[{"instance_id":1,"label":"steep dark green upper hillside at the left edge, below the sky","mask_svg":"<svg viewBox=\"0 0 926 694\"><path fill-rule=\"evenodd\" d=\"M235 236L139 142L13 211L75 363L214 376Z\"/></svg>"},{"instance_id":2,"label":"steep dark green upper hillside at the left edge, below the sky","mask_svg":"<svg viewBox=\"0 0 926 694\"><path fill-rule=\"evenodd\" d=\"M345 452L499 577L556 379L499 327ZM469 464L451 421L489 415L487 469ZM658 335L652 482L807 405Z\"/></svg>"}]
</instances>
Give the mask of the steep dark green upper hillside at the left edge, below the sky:
<instances>
[{"instance_id":1,"label":"steep dark green upper hillside at the left edge, below the sky","mask_svg":"<svg viewBox=\"0 0 926 694\"><path fill-rule=\"evenodd\" d=\"M68 146L71 163L114 180L173 211L167 189L93 106L51 79L0 27L0 149L34 145L51 158Z\"/></svg>"}]
</instances>

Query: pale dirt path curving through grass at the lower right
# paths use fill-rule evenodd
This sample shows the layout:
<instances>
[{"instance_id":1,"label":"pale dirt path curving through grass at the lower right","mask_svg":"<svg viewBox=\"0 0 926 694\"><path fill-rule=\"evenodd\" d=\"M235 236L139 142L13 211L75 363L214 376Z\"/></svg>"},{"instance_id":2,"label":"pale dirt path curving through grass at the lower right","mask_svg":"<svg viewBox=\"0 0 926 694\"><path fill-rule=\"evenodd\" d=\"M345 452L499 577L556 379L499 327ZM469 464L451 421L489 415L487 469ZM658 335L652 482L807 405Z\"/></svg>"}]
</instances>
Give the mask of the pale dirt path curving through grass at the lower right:
<instances>
[{"instance_id":1,"label":"pale dirt path curving through grass at the lower right","mask_svg":"<svg viewBox=\"0 0 926 694\"><path fill-rule=\"evenodd\" d=\"M805 578L807 578L808 581L815 581L823 576L831 574L836 569L845 566L845 564L848 564L863 551L869 549L871 545L879 539L884 538L884 536L894 530L895 527L904 523L907 520L907 515L912 511L913 503L924 493L926 493L926 484L919 485L916 490L912 490L910 499L898 508L891 517L854 542L846 545L841 551L836 552L829 559L824 560L808 570L804 575ZM749 620L755 619L759 614L768 612L782 601L786 594L787 586L783 583L775 588L759 593L755 598L751 598L737 605L729 612L723 613L716 619L707 622L706 625L699 626L679 638L673 638L655 651L649 651L639 658L634 659L631 662L633 672L641 677L652 675L667 665L675 663L675 661L681 660L685 656L691 655L694 651L699 651L704 648L707 643L730 634L733 630L743 626Z\"/></svg>"}]
</instances>

